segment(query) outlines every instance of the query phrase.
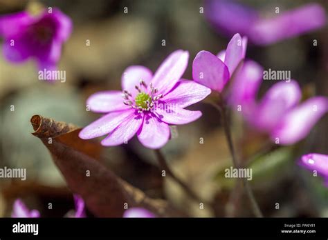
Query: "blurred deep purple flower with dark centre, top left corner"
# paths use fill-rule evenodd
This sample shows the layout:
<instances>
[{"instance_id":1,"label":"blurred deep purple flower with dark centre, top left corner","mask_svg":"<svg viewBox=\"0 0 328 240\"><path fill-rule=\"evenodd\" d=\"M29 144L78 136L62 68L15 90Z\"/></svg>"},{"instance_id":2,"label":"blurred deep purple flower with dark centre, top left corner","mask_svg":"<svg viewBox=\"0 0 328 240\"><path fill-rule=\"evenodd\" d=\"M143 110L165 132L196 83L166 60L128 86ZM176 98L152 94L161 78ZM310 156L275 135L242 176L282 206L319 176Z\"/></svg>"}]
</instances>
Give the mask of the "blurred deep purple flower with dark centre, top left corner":
<instances>
[{"instance_id":1,"label":"blurred deep purple flower with dark centre, top left corner","mask_svg":"<svg viewBox=\"0 0 328 240\"><path fill-rule=\"evenodd\" d=\"M60 60L62 43L69 39L72 22L58 9L44 10L34 17L17 12L0 17L3 54L8 61L20 63L33 57L39 70L54 70Z\"/></svg>"}]
</instances>

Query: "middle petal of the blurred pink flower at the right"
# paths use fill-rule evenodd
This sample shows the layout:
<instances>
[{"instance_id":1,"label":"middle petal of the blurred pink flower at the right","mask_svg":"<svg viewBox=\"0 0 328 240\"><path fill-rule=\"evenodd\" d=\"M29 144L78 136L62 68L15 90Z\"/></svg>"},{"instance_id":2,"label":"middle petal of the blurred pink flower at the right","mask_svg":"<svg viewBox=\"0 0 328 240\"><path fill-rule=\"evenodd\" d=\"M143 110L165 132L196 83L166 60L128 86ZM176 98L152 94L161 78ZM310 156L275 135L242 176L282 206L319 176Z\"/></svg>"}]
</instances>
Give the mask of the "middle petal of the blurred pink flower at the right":
<instances>
[{"instance_id":1,"label":"middle petal of the blurred pink flower at the right","mask_svg":"<svg viewBox=\"0 0 328 240\"><path fill-rule=\"evenodd\" d=\"M284 114L298 104L300 98L301 90L296 81L275 83L253 114L253 125L261 130L273 130Z\"/></svg>"}]
</instances>

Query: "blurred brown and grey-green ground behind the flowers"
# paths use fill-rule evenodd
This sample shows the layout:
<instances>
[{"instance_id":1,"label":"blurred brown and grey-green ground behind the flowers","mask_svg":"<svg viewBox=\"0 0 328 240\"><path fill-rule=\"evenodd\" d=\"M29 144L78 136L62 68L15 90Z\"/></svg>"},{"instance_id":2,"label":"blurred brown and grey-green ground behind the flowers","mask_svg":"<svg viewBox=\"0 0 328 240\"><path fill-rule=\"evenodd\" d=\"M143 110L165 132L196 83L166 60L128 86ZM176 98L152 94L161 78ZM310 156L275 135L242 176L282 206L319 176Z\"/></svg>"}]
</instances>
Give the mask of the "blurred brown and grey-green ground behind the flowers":
<instances>
[{"instance_id":1,"label":"blurred brown and grey-green ground behind the flowers","mask_svg":"<svg viewBox=\"0 0 328 240\"><path fill-rule=\"evenodd\" d=\"M183 77L192 79L192 60L197 52L217 53L229 41L206 21L200 12L204 6L201 0L38 2L60 8L73 20L73 33L63 45L59 64L59 69L66 71L66 82L39 81L35 61L14 65L0 52L0 168L26 168L28 177L26 181L0 179L0 217L10 217L17 197L28 208L40 210L42 217L62 217L73 208L71 192L48 150L30 134L30 117L40 114L86 126L100 116L86 111L87 97L100 90L120 90L120 78L128 66L143 65L155 71L170 52L188 50L189 66ZM327 1L313 2L328 12ZM309 1L242 3L273 12L276 6L284 11ZM0 14L24 10L28 4L29 1L0 0ZM265 69L291 70L291 77L300 83L304 96L328 96L327 36L325 27L271 46L249 44L246 57ZM318 46L313 46L313 39L318 39ZM86 46L87 40L90 46ZM273 81L263 81L259 97L272 84ZM10 111L12 105L15 111ZM106 148L103 163L150 197L169 199L193 217L225 217L227 212L228 216L253 216L242 187L224 177L231 158L219 113L204 101L190 109L201 110L203 117L172 128L174 137L163 152L176 174L203 198L215 199L215 211L200 210L179 186L161 177L152 150L136 139L124 146ZM268 146L264 137L247 128L240 117L233 114L231 119L236 149L246 165L253 168L251 184L264 216L328 217L328 190L322 186L322 179L312 177L296 163L300 155L308 152L328 154L327 114L304 141L289 148ZM48 210L49 202L55 204L55 210Z\"/></svg>"}]
</instances>

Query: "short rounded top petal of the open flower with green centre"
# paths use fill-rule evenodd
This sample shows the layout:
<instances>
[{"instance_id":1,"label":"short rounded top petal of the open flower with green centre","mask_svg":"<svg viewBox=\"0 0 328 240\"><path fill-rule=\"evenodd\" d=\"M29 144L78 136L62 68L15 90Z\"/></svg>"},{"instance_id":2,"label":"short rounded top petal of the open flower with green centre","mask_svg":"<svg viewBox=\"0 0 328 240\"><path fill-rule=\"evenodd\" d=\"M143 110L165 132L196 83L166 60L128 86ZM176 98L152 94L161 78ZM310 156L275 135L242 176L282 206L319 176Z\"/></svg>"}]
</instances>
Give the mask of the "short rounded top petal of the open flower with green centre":
<instances>
[{"instance_id":1,"label":"short rounded top petal of the open flower with green centre","mask_svg":"<svg viewBox=\"0 0 328 240\"><path fill-rule=\"evenodd\" d=\"M149 84L152 81L152 75L152 71L144 66L130 66L122 74L122 90L127 90L135 96L137 93L135 86L139 86L141 79Z\"/></svg>"}]
</instances>

